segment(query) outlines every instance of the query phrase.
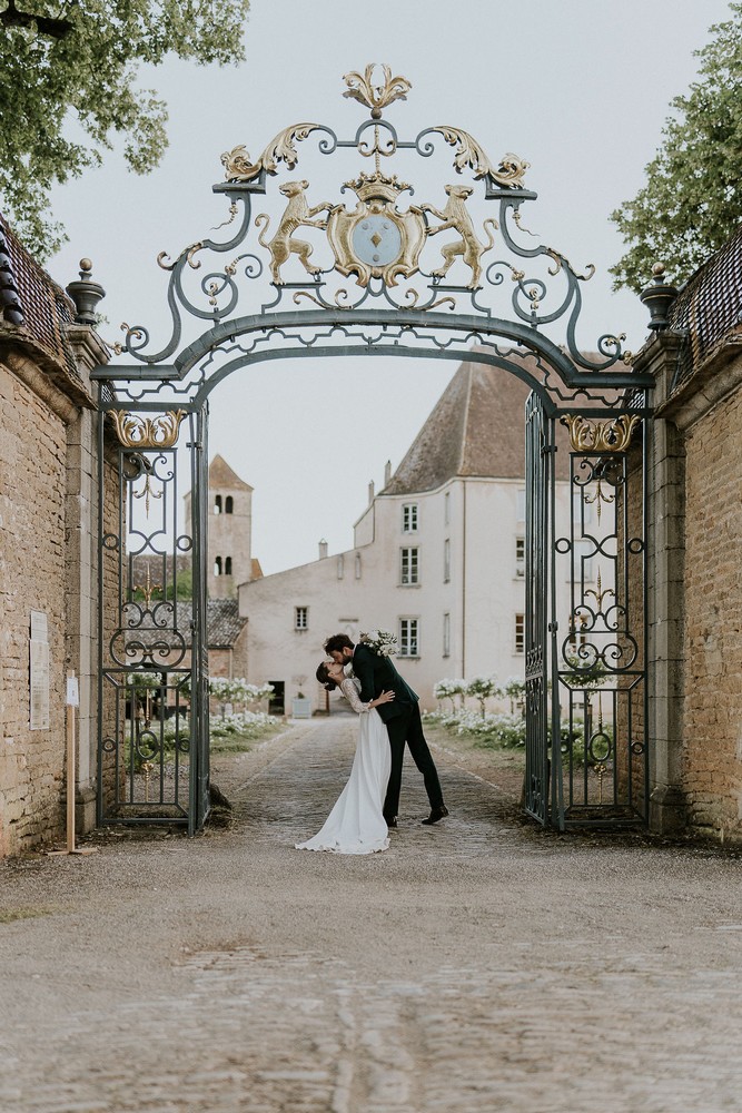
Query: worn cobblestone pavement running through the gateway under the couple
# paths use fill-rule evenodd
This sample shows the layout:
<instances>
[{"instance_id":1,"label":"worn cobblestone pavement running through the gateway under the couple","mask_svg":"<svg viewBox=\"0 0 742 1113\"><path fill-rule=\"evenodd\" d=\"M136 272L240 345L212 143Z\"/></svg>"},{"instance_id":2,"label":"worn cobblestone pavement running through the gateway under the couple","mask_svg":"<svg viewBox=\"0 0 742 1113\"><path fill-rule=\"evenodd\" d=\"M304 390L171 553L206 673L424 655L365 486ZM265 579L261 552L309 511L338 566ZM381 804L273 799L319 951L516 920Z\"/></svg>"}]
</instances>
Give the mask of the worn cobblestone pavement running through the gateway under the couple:
<instances>
[{"instance_id":1,"label":"worn cobblestone pavement running through the gateway under the couple","mask_svg":"<svg viewBox=\"0 0 742 1113\"><path fill-rule=\"evenodd\" d=\"M3 1113L742 1110L738 859L507 821L447 759L445 824L410 764L388 851L296 851L355 729L230 759L229 829L0 869Z\"/></svg>"}]
</instances>

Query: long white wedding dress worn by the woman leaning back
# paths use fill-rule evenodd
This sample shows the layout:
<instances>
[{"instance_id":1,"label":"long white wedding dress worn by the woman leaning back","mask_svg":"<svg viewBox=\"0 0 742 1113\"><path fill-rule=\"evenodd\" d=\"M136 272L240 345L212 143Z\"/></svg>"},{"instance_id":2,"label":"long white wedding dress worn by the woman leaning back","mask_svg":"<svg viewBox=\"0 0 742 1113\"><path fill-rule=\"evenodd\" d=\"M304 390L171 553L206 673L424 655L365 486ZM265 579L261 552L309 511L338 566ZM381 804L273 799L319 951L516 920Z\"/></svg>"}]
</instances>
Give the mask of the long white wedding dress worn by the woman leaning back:
<instances>
[{"instance_id":1,"label":"long white wedding dress worn by the woman leaning back","mask_svg":"<svg viewBox=\"0 0 742 1113\"><path fill-rule=\"evenodd\" d=\"M347 785L323 829L297 850L333 850L335 854L374 854L386 850L389 836L382 815L392 769L389 736L375 707L362 703L355 682L347 678L340 691L358 712L358 745Z\"/></svg>"}]
</instances>

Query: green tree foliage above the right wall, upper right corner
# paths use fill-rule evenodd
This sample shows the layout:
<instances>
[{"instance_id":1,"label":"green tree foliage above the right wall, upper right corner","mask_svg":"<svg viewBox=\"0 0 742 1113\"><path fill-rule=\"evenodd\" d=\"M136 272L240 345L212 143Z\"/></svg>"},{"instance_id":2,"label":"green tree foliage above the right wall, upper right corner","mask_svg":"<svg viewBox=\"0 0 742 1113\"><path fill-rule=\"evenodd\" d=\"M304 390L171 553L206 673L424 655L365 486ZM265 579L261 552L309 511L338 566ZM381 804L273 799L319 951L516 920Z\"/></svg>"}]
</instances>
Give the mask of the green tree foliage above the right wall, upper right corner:
<instances>
[{"instance_id":1,"label":"green tree foliage above the right wall, upper right corner","mask_svg":"<svg viewBox=\"0 0 742 1113\"><path fill-rule=\"evenodd\" d=\"M611 268L616 288L642 290L655 262L676 285L742 220L742 3L730 9L732 18L695 51L699 79L672 101L646 184L611 214L631 245Z\"/></svg>"}]
</instances>

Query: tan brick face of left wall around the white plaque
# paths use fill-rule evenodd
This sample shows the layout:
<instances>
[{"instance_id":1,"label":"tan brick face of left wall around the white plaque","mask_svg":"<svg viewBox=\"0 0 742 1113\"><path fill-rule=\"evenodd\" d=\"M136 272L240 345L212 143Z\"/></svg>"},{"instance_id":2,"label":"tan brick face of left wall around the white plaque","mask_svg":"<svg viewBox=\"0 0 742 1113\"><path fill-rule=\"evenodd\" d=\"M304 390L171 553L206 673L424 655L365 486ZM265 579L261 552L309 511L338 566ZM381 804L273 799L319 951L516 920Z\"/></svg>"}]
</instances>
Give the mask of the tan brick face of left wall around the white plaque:
<instances>
[{"instance_id":1,"label":"tan brick face of left wall around the white plaque","mask_svg":"<svg viewBox=\"0 0 742 1113\"><path fill-rule=\"evenodd\" d=\"M66 427L0 365L0 857L61 833ZM29 624L49 631L50 726L29 728Z\"/></svg>"}]
</instances>

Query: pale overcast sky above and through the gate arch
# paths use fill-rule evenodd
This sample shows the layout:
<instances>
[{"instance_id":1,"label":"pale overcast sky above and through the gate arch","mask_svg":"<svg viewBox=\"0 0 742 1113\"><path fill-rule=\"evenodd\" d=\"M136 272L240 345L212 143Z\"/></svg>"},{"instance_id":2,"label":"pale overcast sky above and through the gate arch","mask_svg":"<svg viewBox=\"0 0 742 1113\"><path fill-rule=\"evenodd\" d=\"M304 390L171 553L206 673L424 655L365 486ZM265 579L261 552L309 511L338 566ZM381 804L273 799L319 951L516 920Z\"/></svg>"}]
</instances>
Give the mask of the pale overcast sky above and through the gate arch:
<instances>
[{"instance_id":1,"label":"pale overcast sky above and through the gate arch","mask_svg":"<svg viewBox=\"0 0 742 1113\"><path fill-rule=\"evenodd\" d=\"M107 338L127 321L164 341L167 275L155 260L225 218L210 188L222 179L221 151L243 142L257 157L299 120L353 136L367 112L344 100L342 77L388 62L413 85L388 112L403 138L453 125L495 162L505 151L527 159L538 199L524 223L527 211L527 226L575 268L597 267L582 287L578 343L590 349L600 334L625 332L636 349L646 311L611 292L607 268L622 244L607 217L642 185L670 100L694 78L693 50L728 14L722 0L253 0L239 67L172 61L142 71L141 83L169 105L161 166L138 178L112 152L57 189L70 243L49 269L67 285L90 256L107 289ZM442 204L441 190L436 179L435 195L429 183L416 193ZM378 489L385 461L397 466L454 371L418 359L274 362L214 392L210 454L255 487L253 549L265 572L314 560L320 538L330 552L350 548L368 481Z\"/></svg>"}]
</instances>

